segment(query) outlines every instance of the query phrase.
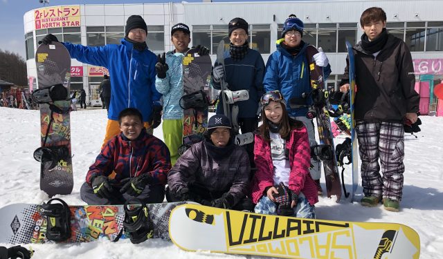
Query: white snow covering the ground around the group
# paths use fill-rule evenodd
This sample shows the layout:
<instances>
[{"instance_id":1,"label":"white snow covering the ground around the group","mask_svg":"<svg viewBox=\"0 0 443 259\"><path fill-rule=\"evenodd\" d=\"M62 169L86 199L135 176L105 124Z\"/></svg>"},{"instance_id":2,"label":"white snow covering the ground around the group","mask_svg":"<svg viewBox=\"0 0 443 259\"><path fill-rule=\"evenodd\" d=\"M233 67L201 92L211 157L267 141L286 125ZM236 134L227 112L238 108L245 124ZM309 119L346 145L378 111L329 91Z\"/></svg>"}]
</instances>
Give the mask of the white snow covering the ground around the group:
<instances>
[{"instance_id":1,"label":"white snow covering the ground around the group","mask_svg":"<svg viewBox=\"0 0 443 259\"><path fill-rule=\"evenodd\" d=\"M318 218L363 222L398 222L415 229L421 240L420 258L442 258L443 251L443 117L421 117L418 138L407 135L404 196L401 211L382 207L366 208L354 202L320 198ZM71 139L74 189L71 195L58 195L68 204L84 204L80 186L100 151L106 126L105 110L81 110L71 113ZM33 151L39 146L39 111L0 107L0 207L12 203L41 203L48 200L39 190L39 163ZM163 139L161 126L154 135ZM440 167L442 166L442 167ZM345 171L349 172L349 170ZM345 173L346 174L346 173ZM323 189L324 180L321 180ZM350 176L345 175L350 183ZM441 185L440 185L441 184ZM350 185L347 185L350 189ZM361 198L361 187L357 191ZM1 219L0 219L1 220ZM10 244L0 244L10 247ZM28 246L27 246L28 247ZM217 253L190 253L171 242L148 240L132 244L107 240L84 244L33 244L33 258L245 258ZM440 251L440 252L439 252Z\"/></svg>"}]
</instances>

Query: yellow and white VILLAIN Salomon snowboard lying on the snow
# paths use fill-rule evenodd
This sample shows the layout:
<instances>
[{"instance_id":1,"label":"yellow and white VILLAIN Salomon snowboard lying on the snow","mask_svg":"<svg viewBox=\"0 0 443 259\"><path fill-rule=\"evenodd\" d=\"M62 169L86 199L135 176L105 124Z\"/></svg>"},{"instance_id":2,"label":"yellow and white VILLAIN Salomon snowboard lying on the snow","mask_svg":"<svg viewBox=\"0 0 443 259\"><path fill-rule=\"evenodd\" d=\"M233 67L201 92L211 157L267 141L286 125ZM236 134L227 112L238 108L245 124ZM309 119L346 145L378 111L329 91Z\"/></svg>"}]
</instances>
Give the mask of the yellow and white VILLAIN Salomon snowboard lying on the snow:
<instances>
[{"instance_id":1,"label":"yellow and white VILLAIN Salomon snowboard lying on the snow","mask_svg":"<svg viewBox=\"0 0 443 259\"><path fill-rule=\"evenodd\" d=\"M199 204L172 209L170 238L186 251L278 258L419 258L417 232L403 224L312 220Z\"/></svg>"}]
</instances>

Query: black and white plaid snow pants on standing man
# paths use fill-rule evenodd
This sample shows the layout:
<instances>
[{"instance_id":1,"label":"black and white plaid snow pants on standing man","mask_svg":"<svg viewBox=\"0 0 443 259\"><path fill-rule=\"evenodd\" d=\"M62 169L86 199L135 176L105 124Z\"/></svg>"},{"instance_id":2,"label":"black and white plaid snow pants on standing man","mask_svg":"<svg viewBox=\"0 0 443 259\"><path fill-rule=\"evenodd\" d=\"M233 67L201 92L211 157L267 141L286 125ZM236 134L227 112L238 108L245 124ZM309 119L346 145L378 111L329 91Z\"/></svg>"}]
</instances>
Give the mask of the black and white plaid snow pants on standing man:
<instances>
[{"instance_id":1,"label":"black and white plaid snow pants on standing man","mask_svg":"<svg viewBox=\"0 0 443 259\"><path fill-rule=\"evenodd\" d=\"M404 180L403 124L357 121L356 133L363 193L400 201Z\"/></svg>"}]
</instances>

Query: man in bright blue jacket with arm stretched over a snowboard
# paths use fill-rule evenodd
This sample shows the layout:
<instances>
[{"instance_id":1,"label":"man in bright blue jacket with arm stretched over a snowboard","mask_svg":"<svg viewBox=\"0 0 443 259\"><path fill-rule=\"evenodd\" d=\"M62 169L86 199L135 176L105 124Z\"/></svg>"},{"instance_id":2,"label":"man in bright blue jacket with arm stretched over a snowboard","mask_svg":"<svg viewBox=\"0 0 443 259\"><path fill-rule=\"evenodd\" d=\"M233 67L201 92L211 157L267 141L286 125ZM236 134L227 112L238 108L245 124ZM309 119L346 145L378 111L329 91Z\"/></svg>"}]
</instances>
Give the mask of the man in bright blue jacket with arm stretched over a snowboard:
<instances>
[{"instance_id":1,"label":"man in bright blue jacket with arm stretched over a snowboard","mask_svg":"<svg viewBox=\"0 0 443 259\"><path fill-rule=\"evenodd\" d=\"M147 26L140 15L126 21L125 38L121 44L82 46L63 42L72 58L109 70L113 79L108 123L103 145L120 133L118 114L125 108L137 108L143 115L145 128L156 128L161 122L161 94L155 88L156 55L146 46ZM48 34L43 44L58 41Z\"/></svg>"}]
</instances>

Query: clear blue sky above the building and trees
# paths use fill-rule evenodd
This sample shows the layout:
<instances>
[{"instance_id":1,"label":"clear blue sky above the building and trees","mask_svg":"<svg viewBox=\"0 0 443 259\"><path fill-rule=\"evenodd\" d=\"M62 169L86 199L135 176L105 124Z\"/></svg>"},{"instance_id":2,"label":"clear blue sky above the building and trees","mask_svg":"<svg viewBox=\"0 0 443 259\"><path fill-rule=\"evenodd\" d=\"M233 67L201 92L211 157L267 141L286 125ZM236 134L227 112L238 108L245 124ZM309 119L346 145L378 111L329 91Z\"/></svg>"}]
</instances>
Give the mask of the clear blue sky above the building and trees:
<instances>
[{"instance_id":1,"label":"clear blue sky above the building and trees","mask_svg":"<svg viewBox=\"0 0 443 259\"><path fill-rule=\"evenodd\" d=\"M63 6L84 3L165 3L161 0L50 0L49 6ZM220 2L227 0L213 0ZM235 0L231 0L235 1ZM248 0L243 0L248 1ZM255 0L260 1L260 0ZM181 1L172 1L181 2ZM187 2L201 2L201 0L187 0ZM26 56L24 44L23 16L25 12L35 8L42 8L39 0L0 0L0 49L19 53Z\"/></svg>"}]
</instances>

